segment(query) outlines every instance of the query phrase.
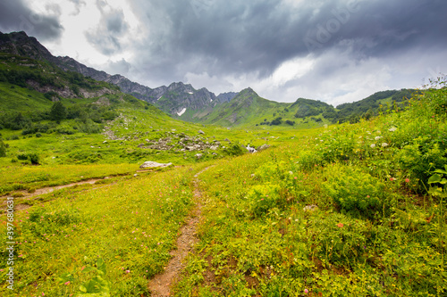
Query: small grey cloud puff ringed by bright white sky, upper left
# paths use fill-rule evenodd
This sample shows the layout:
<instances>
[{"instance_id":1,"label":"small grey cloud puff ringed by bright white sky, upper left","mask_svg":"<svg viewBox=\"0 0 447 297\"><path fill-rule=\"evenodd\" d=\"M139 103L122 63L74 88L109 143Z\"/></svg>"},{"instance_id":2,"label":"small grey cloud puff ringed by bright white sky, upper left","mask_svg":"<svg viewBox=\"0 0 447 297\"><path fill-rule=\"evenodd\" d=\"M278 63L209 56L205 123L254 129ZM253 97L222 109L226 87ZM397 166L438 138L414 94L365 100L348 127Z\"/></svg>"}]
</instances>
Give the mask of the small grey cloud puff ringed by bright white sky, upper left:
<instances>
[{"instance_id":1,"label":"small grey cloud puff ringed by bright white sky, upper left","mask_svg":"<svg viewBox=\"0 0 447 297\"><path fill-rule=\"evenodd\" d=\"M120 53L122 51L120 37L129 29L124 13L121 9L110 7L103 0L97 0L97 8L101 12L101 19L96 29L85 33L89 43L105 55Z\"/></svg>"}]
</instances>

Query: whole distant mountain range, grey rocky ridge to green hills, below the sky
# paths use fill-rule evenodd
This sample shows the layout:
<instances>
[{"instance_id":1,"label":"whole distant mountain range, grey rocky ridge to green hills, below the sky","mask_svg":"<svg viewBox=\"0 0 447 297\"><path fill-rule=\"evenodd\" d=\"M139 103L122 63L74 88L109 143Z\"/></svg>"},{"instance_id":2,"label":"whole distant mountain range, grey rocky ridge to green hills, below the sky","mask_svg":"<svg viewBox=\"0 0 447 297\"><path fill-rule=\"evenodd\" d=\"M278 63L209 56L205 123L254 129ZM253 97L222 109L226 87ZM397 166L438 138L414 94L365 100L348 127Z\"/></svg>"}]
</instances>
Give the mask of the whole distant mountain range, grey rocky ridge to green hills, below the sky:
<instances>
[{"instance_id":1,"label":"whole distant mountain range, grey rocky ridge to green hills, below the sky","mask_svg":"<svg viewBox=\"0 0 447 297\"><path fill-rule=\"evenodd\" d=\"M261 98L249 87L240 93L229 92L217 96L205 87L195 89L182 82L174 82L168 87L146 87L122 75L110 75L105 71L95 70L68 56L55 57L35 37L29 37L25 32L0 32L0 52L48 62L65 72L76 72L84 77L112 84L125 94L155 105L173 118L225 127L296 124L315 126L336 121L352 122L375 115L380 104L400 102L412 91L402 89L379 92L337 108L304 98L299 98L295 103L277 103ZM64 95L74 94L65 92Z\"/></svg>"}]
</instances>

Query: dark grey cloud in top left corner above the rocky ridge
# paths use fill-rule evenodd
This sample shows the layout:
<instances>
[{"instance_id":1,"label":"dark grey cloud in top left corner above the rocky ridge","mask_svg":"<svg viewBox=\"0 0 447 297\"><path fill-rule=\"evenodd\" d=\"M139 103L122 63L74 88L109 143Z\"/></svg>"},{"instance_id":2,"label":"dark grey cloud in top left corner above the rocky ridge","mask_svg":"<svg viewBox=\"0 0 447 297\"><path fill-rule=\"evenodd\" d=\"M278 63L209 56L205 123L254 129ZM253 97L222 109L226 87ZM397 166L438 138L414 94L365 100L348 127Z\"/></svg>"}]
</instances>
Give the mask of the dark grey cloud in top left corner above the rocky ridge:
<instances>
[{"instance_id":1,"label":"dark grey cloud in top left corner above the rocky ridge","mask_svg":"<svg viewBox=\"0 0 447 297\"><path fill-rule=\"evenodd\" d=\"M22 0L0 2L0 29L4 32L25 31L40 41L61 37L60 9L57 5L46 7L46 12L34 12Z\"/></svg>"}]
</instances>

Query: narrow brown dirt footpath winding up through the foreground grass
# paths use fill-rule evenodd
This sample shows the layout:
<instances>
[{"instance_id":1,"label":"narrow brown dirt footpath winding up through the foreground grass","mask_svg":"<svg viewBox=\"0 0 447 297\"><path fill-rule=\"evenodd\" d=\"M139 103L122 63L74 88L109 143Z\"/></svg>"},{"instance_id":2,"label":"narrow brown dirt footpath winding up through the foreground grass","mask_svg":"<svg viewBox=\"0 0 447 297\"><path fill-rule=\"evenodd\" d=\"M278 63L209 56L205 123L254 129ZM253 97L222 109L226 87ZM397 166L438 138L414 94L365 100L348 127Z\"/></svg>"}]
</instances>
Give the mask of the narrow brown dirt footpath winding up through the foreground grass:
<instances>
[{"instance_id":1,"label":"narrow brown dirt footpath winding up through the foreground grass","mask_svg":"<svg viewBox=\"0 0 447 297\"><path fill-rule=\"evenodd\" d=\"M183 268L183 260L192 250L194 244L198 242L196 228L198 221L201 218L200 215L202 209L202 194L198 190L198 176L207 169L208 168L203 169L194 176L194 202L196 203L196 206L188 219L188 223L180 229L181 235L177 238L177 249L170 252L173 258L169 260L163 273L154 276L154 278L149 281L151 297L171 296L171 287L180 276L181 269Z\"/></svg>"}]
</instances>

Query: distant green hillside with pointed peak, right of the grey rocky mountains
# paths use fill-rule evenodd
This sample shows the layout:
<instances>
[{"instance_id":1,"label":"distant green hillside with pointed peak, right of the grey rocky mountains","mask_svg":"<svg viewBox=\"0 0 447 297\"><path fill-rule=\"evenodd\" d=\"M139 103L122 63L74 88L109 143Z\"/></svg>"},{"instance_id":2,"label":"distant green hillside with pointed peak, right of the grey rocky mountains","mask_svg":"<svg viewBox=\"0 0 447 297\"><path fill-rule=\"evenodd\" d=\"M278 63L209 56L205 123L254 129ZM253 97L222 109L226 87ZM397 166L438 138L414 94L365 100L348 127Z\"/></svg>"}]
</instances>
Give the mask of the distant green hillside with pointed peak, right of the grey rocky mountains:
<instances>
[{"instance_id":1,"label":"distant green hillside with pointed peak, right of the grey rocky mountains","mask_svg":"<svg viewBox=\"0 0 447 297\"><path fill-rule=\"evenodd\" d=\"M186 111L181 120L238 128L317 128L336 122L357 123L380 113L405 108L415 90L377 92L355 103L337 108L317 100L299 98L294 103L277 103L261 98L251 88L242 90L231 102L214 109Z\"/></svg>"}]
</instances>

